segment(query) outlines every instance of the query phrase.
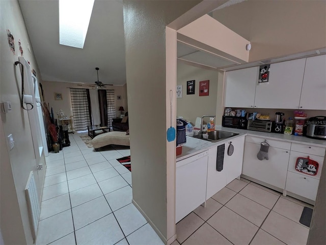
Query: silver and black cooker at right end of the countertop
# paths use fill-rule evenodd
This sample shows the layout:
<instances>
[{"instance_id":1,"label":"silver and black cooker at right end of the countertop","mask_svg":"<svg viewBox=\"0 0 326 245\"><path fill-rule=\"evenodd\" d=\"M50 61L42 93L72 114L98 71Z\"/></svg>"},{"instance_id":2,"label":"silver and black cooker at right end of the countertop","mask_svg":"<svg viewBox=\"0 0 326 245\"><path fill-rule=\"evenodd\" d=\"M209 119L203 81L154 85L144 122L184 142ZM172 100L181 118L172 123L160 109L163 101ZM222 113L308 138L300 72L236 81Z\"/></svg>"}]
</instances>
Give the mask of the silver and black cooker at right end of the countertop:
<instances>
[{"instance_id":1,"label":"silver and black cooker at right end of the countertop","mask_svg":"<svg viewBox=\"0 0 326 245\"><path fill-rule=\"evenodd\" d=\"M314 116L307 120L306 136L326 140L326 116Z\"/></svg>"}]
</instances>

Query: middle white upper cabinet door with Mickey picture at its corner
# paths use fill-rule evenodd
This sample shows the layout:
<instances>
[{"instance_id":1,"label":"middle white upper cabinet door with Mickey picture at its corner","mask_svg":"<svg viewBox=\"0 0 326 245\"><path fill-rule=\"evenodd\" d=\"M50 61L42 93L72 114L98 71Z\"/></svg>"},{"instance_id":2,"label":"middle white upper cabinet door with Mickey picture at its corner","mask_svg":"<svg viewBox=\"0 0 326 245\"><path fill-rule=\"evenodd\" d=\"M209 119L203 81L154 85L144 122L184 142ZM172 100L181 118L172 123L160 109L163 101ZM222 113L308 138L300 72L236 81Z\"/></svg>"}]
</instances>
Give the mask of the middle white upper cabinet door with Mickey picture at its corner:
<instances>
[{"instance_id":1,"label":"middle white upper cabinet door with Mickey picture at its corner","mask_svg":"<svg viewBox=\"0 0 326 245\"><path fill-rule=\"evenodd\" d=\"M269 81L256 87L255 107L297 109L306 58L270 65Z\"/></svg>"}]
</instances>

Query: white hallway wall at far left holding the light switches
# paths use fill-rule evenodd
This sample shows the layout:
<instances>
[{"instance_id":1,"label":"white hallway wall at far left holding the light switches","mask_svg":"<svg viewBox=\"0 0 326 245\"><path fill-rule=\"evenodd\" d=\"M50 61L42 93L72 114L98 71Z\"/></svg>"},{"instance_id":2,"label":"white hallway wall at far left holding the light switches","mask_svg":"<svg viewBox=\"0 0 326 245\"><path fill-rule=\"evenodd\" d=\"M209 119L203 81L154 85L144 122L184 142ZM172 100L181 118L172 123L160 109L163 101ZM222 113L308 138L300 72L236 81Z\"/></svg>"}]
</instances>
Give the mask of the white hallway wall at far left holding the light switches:
<instances>
[{"instance_id":1,"label":"white hallway wall at far left holding the light switches","mask_svg":"<svg viewBox=\"0 0 326 245\"><path fill-rule=\"evenodd\" d=\"M19 68L14 66L18 55L20 56L18 40L21 42L24 58L37 73L38 81L42 79L18 1L0 1L0 16L0 96L1 102L9 101L12 106L9 113L1 113L1 231L6 244L32 244L24 189L30 171L33 171L40 198L45 168L42 171L36 170L28 112L20 107L21 76ZM6 29L10 29L14 36L16 54L10 50ZM31 52L27 48L28 43ZM12 150L8 149L6 143L9 134L13 135L15 141ZM44 154L40 163L45 165Z\"/></svg>"}]
</instances>

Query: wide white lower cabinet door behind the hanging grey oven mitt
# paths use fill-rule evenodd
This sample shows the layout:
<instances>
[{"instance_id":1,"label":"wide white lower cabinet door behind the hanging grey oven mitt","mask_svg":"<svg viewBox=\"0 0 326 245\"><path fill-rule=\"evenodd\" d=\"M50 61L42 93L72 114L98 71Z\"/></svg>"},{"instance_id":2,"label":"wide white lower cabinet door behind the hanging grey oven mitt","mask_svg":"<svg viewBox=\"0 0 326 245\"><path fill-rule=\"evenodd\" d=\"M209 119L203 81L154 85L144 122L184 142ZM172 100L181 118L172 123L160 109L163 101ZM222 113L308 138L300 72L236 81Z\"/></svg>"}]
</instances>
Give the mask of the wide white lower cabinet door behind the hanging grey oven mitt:
<instances>
[{"instance_id":1,"label":"wide white lower cabinet door behind the hanging grey oven mitt","mask_svg":"<svg viewBox=\"0 0 326 245\"><path fill-rule=\"evenodd\" d=\"M289 163L289 150L269 146L268 160L260 161L257 154L260 144L246 142L244 145L242 174L269 185L284 189Z\"/></svg>"}]
</instances>

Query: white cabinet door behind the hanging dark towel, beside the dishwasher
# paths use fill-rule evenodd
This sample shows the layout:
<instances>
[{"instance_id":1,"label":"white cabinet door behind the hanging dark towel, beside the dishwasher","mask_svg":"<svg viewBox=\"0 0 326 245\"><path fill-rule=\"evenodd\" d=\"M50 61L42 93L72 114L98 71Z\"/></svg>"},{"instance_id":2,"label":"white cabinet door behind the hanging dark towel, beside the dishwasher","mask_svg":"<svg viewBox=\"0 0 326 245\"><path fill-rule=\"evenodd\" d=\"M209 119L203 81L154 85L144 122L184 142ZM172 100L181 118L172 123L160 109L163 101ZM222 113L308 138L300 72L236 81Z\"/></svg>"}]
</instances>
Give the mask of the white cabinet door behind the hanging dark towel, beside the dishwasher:
<instances>
[{"instance_id":1,"label":"white cabinet door behind the hanging dark towel, beside the dishwasher","mask_svg":"<svg viewBox=\"0 0 326 245\"><path fill-rule=\"evenodd\" d=\"M208 169L207 169L207 187L206 187L206 200L218 193L226 186L225 171L216 170L216 154L218 146L209 149L208 155ZM225 155L224 155L225 156Z\"/></svg>"}]
</instances>

